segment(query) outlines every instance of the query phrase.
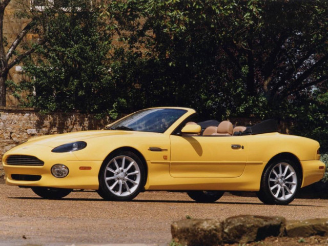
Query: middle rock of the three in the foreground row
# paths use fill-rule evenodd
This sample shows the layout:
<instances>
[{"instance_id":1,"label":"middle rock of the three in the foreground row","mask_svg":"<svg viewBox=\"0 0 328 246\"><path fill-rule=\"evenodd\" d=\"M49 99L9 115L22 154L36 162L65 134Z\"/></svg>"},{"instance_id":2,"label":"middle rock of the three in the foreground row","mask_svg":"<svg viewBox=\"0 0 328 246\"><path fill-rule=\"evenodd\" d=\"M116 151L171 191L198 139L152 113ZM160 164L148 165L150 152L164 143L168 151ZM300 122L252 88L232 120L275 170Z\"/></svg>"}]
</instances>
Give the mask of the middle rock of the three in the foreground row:
<instances>
[{"instance_id":1,"label":"middle rock of the three in the foreground row","mask_svg":"<svg viewBox=\"0 0 328 246\"><path fill-rule=\"evenodd\" d=\"M270 236L283 236L285 218L240 215L223 221L223 241L247 243Z\"/></svg>"}]
</instances>

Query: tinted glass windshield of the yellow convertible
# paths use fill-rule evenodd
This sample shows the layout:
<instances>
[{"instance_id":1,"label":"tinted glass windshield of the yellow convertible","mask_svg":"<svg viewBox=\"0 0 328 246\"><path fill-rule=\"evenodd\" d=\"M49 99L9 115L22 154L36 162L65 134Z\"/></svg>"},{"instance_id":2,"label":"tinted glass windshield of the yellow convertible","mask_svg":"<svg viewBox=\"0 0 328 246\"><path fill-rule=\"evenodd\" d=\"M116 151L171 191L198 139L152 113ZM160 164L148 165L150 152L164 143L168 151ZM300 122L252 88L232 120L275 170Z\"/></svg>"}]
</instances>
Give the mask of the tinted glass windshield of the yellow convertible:
<instances>
[{"instance_id":1,"label":"tinted glass windshield of the yellow convertible","mask_svg":"<svg viewBox=\"0 0 328 246\"><path fill-rule=\"evenodd\" d=\"M147 109L136 112L105 130L165 132L187 111L182 109Z\"/></svg>"}]
</instances>

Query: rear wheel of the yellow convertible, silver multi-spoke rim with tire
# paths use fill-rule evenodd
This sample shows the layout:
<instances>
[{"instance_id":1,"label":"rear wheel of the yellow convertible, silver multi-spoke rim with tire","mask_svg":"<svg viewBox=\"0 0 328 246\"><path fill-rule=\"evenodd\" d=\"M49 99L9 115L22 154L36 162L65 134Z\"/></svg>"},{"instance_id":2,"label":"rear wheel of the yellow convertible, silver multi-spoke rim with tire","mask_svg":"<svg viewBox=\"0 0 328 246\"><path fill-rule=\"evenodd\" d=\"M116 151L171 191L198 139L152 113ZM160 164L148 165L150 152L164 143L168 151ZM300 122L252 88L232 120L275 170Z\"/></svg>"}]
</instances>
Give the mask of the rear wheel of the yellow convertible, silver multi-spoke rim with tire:
<instances>
[{"instance_id":1,"label":"rear wheel of the yellow convertible, silver multi-spoke rim with tire","mask_svg":"<svg viewBox=\"0 0 328 246\"><path fill-rule=\"evenodd\" d=\"M291 160L275 160L265 168L257 197L265 204L291 203L301 185L299 167Z\"/></svg>"}]
</instances>

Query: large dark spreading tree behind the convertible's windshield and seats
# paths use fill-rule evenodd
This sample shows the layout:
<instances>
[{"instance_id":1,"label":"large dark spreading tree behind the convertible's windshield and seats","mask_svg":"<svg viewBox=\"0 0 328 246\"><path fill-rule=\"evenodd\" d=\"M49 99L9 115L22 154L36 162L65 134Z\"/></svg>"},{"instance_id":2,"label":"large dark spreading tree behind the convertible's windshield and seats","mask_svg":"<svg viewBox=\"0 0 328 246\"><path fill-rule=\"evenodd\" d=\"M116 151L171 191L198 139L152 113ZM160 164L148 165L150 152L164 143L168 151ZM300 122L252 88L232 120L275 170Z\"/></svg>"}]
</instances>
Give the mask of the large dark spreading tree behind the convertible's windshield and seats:
<instances>
[{"instance_id":1,"label":"large dark spreading tree behind the convertible's windshield and seats","mask_svg":"<svg viewBox=\"0 0 328 246\"><path fill-rule=\"evenodd\" d=\"M109 1L107 10L142 53L129 79L145 106L285 118L327 89L326 1Z\"/></svg>"}]
</instances>

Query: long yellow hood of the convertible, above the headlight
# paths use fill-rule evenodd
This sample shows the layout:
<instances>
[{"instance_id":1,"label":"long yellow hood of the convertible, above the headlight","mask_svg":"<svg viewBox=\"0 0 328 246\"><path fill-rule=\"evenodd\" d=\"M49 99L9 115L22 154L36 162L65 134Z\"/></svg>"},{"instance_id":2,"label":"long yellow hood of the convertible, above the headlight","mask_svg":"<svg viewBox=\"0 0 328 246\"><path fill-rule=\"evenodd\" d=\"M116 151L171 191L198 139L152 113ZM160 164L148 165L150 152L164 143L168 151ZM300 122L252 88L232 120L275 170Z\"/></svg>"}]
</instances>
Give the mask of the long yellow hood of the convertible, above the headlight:
<instances>
[{"instance_id":1,"label":"long yellow hood of the convertible, above the headlight","mask_svg":"<svg viewBox=\"0 0 328 246\"><path fill-rule=\"evenodd\" d=\"M57 147L59 145L68 144L75 141L87 141L90 138L99 138L106 136L129 136L129 135L149 135L153 132L137 132L137 131L121 131L121 130L97 130L97 131L80 131L56 135L46 135L29 139L23 145L44 145L49 147ZM155 133L156 134L156 133Z\"/></svg>"}]
</instances>

